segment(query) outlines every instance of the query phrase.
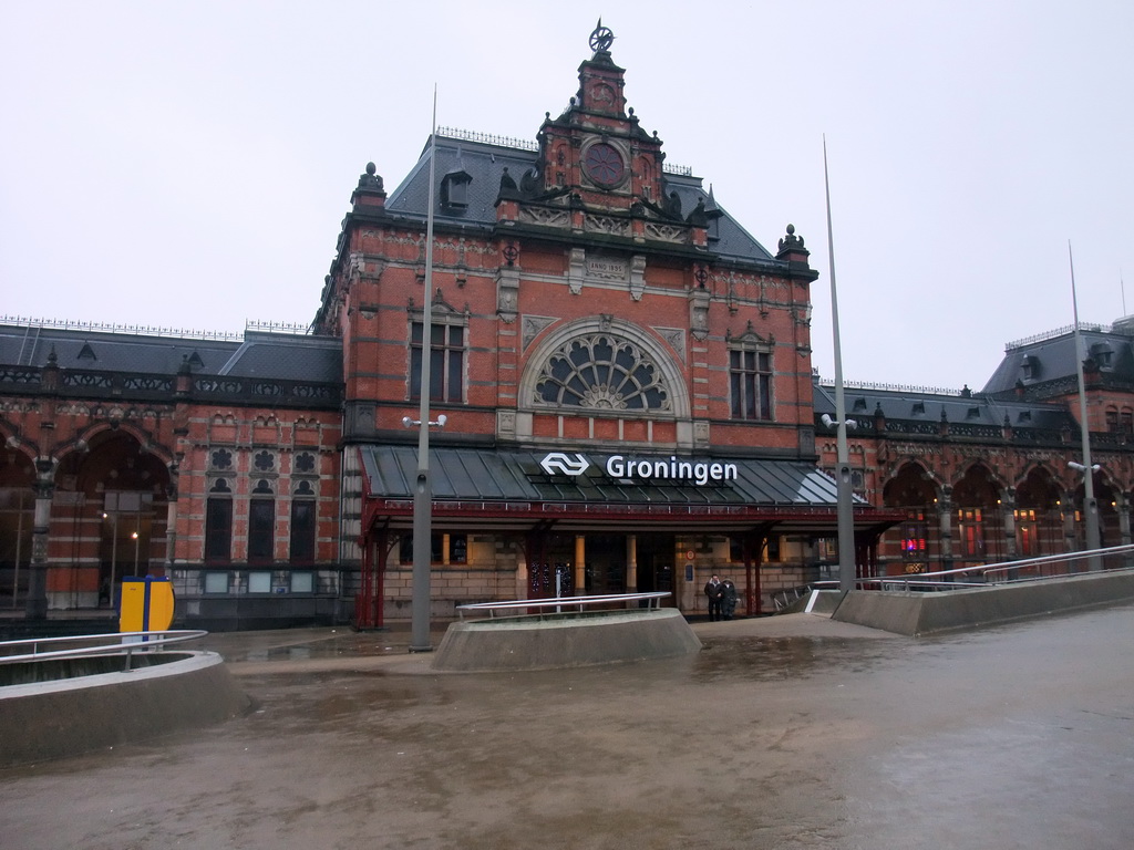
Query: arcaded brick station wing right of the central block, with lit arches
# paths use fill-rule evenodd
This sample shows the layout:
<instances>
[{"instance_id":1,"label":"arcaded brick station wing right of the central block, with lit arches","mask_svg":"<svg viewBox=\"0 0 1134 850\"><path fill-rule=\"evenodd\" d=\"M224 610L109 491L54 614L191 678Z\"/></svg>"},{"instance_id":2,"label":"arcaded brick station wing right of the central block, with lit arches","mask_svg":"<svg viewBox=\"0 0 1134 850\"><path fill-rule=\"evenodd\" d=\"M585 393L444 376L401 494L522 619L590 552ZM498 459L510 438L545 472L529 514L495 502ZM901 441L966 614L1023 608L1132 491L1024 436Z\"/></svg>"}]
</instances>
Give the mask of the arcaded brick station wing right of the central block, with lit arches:
<instances>
[{"instance_id":1,"label":"arcaded brick station wing right of the central block, with lit arches","mask_svg":"<svg viewBox=\"0 0 1134 850\"><path fill-rule=\"evenodd\" d=\"M857 425L848 440L855 492L905 513L880 549L882 575L1085 547L1080 367L1100 538L1131 543L1134 320L1125 317L1009 342L978 392L846 389ZM816 440L828 469L835 433L822 415L833 409L831 386L818 383Z\"/></svg>"}]
</instances>

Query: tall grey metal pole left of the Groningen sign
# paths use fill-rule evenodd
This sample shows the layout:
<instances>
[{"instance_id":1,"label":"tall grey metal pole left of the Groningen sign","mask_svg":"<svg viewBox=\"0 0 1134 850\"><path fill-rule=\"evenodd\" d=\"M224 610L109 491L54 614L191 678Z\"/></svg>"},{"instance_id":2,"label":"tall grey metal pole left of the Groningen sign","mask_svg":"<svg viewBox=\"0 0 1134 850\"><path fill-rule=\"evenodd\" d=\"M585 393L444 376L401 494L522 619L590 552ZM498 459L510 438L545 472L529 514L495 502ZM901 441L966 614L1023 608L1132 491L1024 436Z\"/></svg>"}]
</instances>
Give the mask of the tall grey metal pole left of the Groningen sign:
<instances>
[{"instance_id":1,"label":"tall grey metal pole left of the Groningen sign","mask_svg":"<svg viewBox=\"0 0 1134 850\"><path fill-rule=\"evenodd\" d=\"M429 210L425 215L425 304L422 312L421 406L417 432L417 481L414 486L414 573L409 652L428 653L430 643L430 561L433 554L433 492L429 479L429 398L433 360L433 180L437 165L437 86L429 150Z\"/></svg>"}]
</instances>

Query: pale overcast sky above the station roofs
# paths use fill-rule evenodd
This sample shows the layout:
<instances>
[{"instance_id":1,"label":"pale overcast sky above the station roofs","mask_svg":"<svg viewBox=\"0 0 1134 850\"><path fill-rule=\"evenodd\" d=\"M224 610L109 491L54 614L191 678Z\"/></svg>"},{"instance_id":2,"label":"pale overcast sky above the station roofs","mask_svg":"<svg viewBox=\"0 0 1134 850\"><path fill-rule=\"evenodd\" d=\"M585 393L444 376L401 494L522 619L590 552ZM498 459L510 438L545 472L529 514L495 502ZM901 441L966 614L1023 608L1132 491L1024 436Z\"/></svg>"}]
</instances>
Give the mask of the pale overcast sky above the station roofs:
<instances>
[{"instance_id":1,"label":"pale overcast sky above the station roofs","mask_svg":"<svg viewBox=\"0 0 1134 850\"><path fill-rule=\"evenodd\" d=\"M981 389L1006 342L1134 313L1134 3L0 0L0 315L307 323L367 161L534 141L595 20L628 104L821 278L849 381ZM1131 289L1124 304L1125 278Z\"/></svg>"}]
</instances>

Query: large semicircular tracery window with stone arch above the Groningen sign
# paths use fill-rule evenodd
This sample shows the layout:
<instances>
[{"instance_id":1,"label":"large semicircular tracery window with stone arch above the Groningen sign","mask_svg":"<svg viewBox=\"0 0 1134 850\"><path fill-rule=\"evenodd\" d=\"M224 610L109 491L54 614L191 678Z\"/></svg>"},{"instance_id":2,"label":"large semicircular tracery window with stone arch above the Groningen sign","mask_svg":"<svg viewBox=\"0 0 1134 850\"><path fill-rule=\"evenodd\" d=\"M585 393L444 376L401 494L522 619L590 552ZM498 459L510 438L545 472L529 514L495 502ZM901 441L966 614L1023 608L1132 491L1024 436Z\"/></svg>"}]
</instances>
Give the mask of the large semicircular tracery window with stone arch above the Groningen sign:
<instances>
[{"instance_id":1,"label":"large semicircular tracery window with stone arch above the Groningen sign","mask_svg":"<svg viewBox=\"0 0 1134 850\"><path fill-rule=\"evenodd\" d=\"M661 341L604 316L550 333L528 359L521 399L532 408L689 416L685 381Z\"/></svg>"}]
</instances>

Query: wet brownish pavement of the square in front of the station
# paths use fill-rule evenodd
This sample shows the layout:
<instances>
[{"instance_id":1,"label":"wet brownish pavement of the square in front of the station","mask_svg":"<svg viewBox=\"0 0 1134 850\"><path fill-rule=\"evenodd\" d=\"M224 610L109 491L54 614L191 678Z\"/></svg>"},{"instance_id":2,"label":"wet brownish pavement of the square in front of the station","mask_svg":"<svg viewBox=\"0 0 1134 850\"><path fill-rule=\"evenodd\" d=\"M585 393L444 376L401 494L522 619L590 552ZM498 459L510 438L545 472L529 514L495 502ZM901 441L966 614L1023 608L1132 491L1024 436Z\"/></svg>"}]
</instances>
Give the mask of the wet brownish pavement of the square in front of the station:
<instances>
[{"instance_id":1,"label":"wet brownish pavement of the square in front of the station","mask_svg":"<svg viewBox=\"0 0 1134 850\"><path fill-rule=\"evenodd\" d=\"M254 708L0 771L0 847L1134 847L1134 606L694 630L682 660L477 674L406 629L211 635Z\"/></svg>"}]
</instances>

